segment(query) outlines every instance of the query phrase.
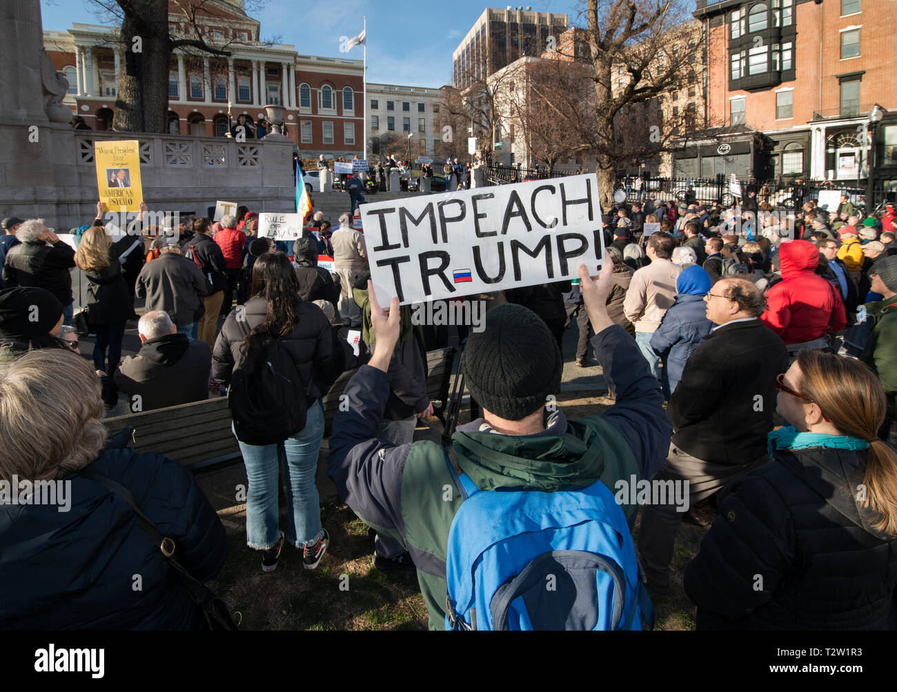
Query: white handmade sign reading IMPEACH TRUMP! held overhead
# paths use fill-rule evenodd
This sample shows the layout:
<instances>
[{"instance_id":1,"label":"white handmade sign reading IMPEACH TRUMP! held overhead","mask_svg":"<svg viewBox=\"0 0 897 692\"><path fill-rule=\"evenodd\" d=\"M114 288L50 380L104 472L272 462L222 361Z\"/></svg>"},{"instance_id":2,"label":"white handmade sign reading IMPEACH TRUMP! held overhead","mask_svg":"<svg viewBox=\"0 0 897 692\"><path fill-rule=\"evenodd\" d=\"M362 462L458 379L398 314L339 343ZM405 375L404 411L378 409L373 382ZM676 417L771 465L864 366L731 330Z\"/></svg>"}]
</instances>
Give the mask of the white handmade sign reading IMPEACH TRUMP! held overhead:
<instances>
[{"instance_id":1,"label":"white handmade sign reading IMPEACH TRUMP! held overhead","mask_svg":"<svg viewBox=\"0 0 897 692\"><path fill-rule=\"evenodd\" d=\"M381 305L564 281L604 264L594 173L361 206Z\"/></svg>"}]
</instances>

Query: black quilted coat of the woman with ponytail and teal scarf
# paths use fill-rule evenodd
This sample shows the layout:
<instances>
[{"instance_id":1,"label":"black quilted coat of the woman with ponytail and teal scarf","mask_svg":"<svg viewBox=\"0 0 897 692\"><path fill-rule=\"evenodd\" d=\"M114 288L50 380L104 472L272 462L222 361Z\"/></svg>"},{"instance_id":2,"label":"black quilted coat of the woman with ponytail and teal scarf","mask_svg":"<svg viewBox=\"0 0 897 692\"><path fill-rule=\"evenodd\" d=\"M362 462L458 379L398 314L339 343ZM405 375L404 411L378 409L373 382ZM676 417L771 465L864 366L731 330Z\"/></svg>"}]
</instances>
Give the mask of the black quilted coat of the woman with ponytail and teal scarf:
<instances>
[{"instance_id":1,"label":"black quilted coat of the woman with ponytail and teal scarf","mask_svg":"<svg viewBox=\"0 0 897 692\"><path fill-rule=\"evenodd\" d=\"M866 454L776 450L772 463L736 481L685 568L699 629L887 626L897 540L876 532L858 506Z\"/></svg>"}]
</instances>

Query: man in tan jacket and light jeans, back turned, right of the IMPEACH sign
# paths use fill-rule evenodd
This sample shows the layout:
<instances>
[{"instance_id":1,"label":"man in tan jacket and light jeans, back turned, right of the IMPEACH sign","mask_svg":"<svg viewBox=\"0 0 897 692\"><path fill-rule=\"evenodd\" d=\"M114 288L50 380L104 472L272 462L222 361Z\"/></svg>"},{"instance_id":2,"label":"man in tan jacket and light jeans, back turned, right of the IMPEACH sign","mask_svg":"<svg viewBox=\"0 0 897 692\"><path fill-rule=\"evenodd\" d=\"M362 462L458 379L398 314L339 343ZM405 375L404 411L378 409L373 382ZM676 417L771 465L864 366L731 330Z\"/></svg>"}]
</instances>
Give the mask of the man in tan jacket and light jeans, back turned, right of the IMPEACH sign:
<instances>
[{"instance_id":1,"label":"man in tan jacket and light jeans, back turned, right of the IMPEACH sign","mask_svg":"<svg viewBox=\"0 0 897 692\"><path fill-rule=\"evenodd\" d=\"M651 374L660 379L660 357L651 348L651 334L660 325L666 310L675 301L675 280L681 267L673 264L673 248L679 245L669 233L658 231L648 237L645 255L651 264L632 274L623 312L635 324L635 342L648 360Z\"/></svg>"}]
</instances>

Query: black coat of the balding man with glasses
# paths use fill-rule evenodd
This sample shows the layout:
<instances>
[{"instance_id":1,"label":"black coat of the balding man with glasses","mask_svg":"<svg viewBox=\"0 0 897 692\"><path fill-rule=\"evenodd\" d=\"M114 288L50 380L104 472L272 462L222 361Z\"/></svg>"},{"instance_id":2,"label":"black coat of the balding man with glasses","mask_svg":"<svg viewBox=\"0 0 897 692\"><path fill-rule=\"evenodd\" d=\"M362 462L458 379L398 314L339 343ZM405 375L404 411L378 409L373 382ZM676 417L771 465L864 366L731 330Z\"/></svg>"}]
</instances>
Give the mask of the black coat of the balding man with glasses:
<instances>
[{"instance_id":1,"label":"black coat of the balding man with glasses","mask_svg":"<svg viewBox=\"0 0 897 692\"><path fill-rule=\"evenodd\" d=\"M776 376L787 369L785 342L759 319L723 324L689 356L670 396L673 443L705 462L756 461L772 429Z\"/></svg>"}]
</instances>

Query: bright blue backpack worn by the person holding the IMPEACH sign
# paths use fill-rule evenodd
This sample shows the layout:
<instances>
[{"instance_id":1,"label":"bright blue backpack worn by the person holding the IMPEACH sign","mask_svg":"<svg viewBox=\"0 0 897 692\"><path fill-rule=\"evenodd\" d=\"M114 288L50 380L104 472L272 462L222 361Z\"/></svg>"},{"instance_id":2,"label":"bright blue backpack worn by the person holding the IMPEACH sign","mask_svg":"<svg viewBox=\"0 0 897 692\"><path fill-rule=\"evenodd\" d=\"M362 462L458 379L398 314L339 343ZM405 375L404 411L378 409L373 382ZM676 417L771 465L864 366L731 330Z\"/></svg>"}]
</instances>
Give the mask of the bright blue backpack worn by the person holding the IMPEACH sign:
<instances>
[{"instance_id":1,"label":"bright blue backpack worn by the person holding the IMPEACH sign","mask_svg":"<svg viewBox=\"0 0 897 692\"><path fill-rule=\"evenodd\" d=\"M448 532L447 630L653 627L623 507L601 480L481 491L448 457L463 501Z\"/></svg>"}]
</instances>

